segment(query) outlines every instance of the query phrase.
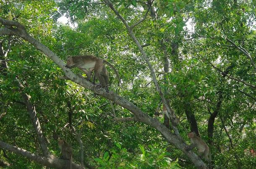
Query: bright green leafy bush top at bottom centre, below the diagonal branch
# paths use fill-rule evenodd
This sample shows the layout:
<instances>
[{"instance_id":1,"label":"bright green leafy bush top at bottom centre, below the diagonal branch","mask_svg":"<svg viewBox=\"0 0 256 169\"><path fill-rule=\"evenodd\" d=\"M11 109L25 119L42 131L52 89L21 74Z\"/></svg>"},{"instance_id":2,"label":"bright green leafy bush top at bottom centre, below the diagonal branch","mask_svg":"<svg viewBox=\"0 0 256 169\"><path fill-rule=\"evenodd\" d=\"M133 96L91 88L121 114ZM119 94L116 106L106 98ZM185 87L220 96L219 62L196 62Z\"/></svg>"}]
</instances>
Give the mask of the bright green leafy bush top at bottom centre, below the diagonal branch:
<instances>
[{"instance_id":1,"label":"bright green leafy bush top at bottom centre, below the diagonal branch","mask_svg":"<svg viewBox=\"0 0 256 169\"><path fill-rule=\"evenodd\" d=\"M127 149L122 148L119 143L116 143L118 149L107 151L100 158L95 158L94 160L98 162L99 168L163 168L163 169L180 169L178 164L178 159L172 161L167 153L166 149L159 149L155 146L149 146L148 149L144 149L143 146L139 145L141 150L141 155L134 158L133 155L127 151ZM111 154L111 155L110 155ZM110 158L111 156L111 158Z\"/></svg>"}]
</instances>

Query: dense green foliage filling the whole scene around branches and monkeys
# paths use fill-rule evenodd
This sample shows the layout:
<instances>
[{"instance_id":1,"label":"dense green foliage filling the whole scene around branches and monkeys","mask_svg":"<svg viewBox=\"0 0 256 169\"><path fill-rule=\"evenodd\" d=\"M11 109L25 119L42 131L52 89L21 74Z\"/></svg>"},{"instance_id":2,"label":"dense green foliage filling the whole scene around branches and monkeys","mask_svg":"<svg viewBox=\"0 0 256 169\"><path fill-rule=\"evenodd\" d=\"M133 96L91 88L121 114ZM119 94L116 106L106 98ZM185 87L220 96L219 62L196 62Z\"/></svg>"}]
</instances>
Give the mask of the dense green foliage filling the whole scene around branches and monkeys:
<instances>
[{"instance_id":1,"label":"dense green foliage filling the whole scene around branches and monkeys","mask_svg":"<svg viewBox=\"0 0 256 169\"><path fill-rule=\"evenodd\" d=\"M106 66L110 90L173 133L169 119L156 116L163 106L150 67L107 1L2 0L0 17L24 25L64 62L69 55L88 54L110 62L122 79L118 86ZM209 145L214 168L256 166L256 0L155 0L152 7L150 0L112 3L129 25L146 16L133 33L180 121L177 128L185 142L190 144L187 133L195 131ZM69 24L57 22L61 16ZM1 28L10 27L2 23ZM65 78L31 43L0 35L0 141L43 156L26 93L54 156L60 156L57 135L72 145L77 164L82 164L82 145L87 168L195 167L159 130L125 120L134 116L128 109L117 103L112 110L108 98ZM0 144L4 165L44 167Z\"/></svg>"}]
</instances>

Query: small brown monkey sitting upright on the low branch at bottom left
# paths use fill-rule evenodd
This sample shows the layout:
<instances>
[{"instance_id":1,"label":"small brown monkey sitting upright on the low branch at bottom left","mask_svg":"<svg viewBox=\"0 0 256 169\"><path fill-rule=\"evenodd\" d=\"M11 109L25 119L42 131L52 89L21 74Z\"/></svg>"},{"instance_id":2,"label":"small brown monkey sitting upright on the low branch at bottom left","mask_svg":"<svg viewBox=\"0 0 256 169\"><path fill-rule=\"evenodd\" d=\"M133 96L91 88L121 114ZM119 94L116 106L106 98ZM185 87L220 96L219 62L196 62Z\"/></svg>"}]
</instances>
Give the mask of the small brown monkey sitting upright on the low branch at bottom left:
<instances>
[{"instance_id":1,"label":"small brown monkey sitting upright on the low branch at bottom left","mask_svg":"<svg viewBox=\"0 0 256 169\"><path fill-rule=\"evenodd\" d=\"M71 146L64 140L58 140L58 146L61 150L60 159L68 160L67 169L72 169L72 152Z\"/></svg>"}]
</instances>

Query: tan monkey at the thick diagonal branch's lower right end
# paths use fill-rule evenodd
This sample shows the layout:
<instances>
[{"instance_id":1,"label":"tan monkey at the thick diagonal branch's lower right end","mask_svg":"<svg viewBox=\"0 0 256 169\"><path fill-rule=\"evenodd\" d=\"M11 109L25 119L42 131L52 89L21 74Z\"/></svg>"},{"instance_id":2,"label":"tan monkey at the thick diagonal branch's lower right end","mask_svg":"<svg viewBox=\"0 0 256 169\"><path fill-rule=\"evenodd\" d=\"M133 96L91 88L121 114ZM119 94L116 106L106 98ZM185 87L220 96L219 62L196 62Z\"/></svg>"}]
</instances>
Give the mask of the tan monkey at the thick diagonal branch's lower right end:
<instances>
[{"instance_id":1,"label":"tan monkey at the thick diagonal branch's lower right end","mask_svg":"<svg viewBox=\"0 0 256 169\"><path fill-rule=\"evenodd\" d=\"M212 156L209 147L207 144L198 136L194 131L188 133L188 138L190 138L191 145L186 148L187 151L192 150L194 147L197 147L197 152L199 157L204 156L204 159L209 163L209 169L212 168Z\"/></svg>"}]
</instances>

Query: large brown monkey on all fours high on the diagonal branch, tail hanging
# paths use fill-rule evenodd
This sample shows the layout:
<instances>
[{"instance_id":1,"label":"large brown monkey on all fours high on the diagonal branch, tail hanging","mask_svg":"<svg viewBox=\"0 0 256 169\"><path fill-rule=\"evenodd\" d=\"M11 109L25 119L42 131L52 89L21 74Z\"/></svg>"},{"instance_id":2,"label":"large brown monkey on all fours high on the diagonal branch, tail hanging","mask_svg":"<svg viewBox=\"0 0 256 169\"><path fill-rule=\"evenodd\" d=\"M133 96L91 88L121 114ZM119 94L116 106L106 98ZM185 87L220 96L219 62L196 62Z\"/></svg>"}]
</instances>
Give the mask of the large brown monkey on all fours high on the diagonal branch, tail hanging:
<instances>
[{"instance_id":1,"label":"large brown monkey on all fours high on the diagonal branch, tail hanging","mask_svg":"<svg viewBox=\"0 0 256 169\"><path fill-rule=\"evenodd\" d=\"M108 91L108 82L109 76L106 67L104 64L110 66L114 71L118 78L118 86L120 85L120 77L118 71L112 66L109 62L104 61L100 58L97 58L94 55L78 55L78 56L69 56L66 64L66 68L79 68L83 71L87 80L91 80L91 73L94 71L93 83L95 83L95 78L99 80L100 85Z\"/></svg>"}]
</instances>

